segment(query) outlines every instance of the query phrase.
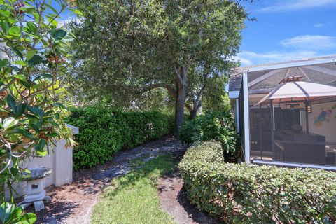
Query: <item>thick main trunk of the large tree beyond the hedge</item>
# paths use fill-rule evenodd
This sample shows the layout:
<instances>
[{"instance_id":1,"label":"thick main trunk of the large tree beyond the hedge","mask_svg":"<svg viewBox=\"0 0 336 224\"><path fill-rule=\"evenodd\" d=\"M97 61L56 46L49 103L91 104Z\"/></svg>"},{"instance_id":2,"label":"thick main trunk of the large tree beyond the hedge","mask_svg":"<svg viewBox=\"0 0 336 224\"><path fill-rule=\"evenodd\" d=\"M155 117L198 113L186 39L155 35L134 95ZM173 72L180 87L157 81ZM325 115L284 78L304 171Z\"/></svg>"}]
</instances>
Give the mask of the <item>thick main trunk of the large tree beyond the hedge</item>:
<instances>
[{"instance_id":1,"label":"thick main trunk of the large tree beyond the hedge","mask_svg":"<svg viewBox=\"0 0 336 224\"><path fill-rule=\"evenodd\" d=\"M179 137L181 126L184 123L184 102L186 100L186 87L187 87L187 68L174 67L176 73L176 108L175 108L175 137Z\"/></svg>"}]
</instances>

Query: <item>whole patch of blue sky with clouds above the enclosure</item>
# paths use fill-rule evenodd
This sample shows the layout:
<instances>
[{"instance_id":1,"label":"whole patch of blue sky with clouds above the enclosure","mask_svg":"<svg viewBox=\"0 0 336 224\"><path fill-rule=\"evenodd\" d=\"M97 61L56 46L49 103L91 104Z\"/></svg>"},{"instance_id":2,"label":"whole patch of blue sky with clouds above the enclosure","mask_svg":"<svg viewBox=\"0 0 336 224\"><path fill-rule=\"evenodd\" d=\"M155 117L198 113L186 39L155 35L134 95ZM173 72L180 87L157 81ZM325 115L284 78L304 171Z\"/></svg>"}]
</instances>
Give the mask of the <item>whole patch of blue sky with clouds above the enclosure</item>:
<instances>
[{"instance_id":1,"label":"whole patch of blue sky with clouds above the enclosure","mask_svg":"<svg viewBox=\"0 0 336 224\"><path fill-rule=\"evenodd\" d=\"M336 55L336 0L244 2L241 66Z\"/></svg>"}]
</instances>

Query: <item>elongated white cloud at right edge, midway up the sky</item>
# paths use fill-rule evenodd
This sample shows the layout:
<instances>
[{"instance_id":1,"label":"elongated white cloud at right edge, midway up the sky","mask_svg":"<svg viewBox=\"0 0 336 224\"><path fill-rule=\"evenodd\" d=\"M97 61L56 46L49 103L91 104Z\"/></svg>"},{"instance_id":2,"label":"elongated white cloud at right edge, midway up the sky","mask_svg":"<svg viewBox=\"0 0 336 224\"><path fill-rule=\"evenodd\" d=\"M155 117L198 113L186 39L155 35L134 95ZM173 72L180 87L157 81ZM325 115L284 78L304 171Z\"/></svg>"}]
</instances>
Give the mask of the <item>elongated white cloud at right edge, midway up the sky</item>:
<instances>
[{"instance_id":1,"label":"elongated white cloud at right edge, midway up the sky","mask_svg":"<svg viewBox=\"0 0 336 224\"><path fill-rule=\"evenodd\" d=\"M304 50L322 50L336 48L335 36L302 35L288 38L280 42L285 47Z\"/></svg>"}]
</instances>

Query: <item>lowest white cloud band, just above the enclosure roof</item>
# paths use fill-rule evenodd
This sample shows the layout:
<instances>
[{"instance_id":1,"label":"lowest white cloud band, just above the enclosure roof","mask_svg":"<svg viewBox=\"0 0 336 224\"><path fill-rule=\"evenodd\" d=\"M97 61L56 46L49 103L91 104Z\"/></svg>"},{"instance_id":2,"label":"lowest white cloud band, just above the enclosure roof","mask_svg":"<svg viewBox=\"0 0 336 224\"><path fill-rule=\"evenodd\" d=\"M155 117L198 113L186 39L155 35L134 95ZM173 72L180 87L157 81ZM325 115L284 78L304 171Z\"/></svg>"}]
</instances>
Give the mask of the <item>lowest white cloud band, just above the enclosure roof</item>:
<instances>
[{"instance_id":1,"label":"lowest white cloud band, just above the enclosure roof","mask_svg":"<svg viewBox=\"0 0 336 224\"><path fill-rule=\"evenodd\" d=\"M311 57L320 57L316 51L312 50L302 50L293 52L252 52L252 51L242 51L237 55L240 59L241 66L249 66L252 64L267 64L269 62L286 62L295 59L307 59ZM247 62L247 63L246 63Z\"/></svg>"}]
</instances>

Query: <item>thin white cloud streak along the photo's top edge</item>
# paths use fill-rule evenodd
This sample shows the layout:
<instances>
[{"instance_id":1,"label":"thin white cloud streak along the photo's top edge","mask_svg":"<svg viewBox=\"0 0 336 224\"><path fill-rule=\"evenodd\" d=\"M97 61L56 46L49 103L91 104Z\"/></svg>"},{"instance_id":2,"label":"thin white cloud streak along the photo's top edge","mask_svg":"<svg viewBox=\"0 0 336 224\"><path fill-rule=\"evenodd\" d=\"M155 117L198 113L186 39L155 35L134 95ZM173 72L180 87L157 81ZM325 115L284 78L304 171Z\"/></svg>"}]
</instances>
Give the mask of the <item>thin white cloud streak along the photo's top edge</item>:
<instances>
[{"instance_id":1,"label":"thin white cloud streak along the photo's top edge","mask_svg":"<svg viewBox=\"0 0 336 224\"><path fill-rule=\"evenodd\" d=\"M273 6L261 8L262 12L274 12L274 11L287 11L287 10L300 10L307 8L316 8L322 6L336 6L336 0L289 0L278 1Z\"/></svg>"}]
</instances>

